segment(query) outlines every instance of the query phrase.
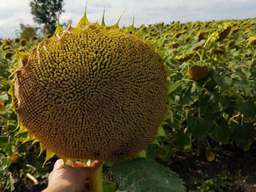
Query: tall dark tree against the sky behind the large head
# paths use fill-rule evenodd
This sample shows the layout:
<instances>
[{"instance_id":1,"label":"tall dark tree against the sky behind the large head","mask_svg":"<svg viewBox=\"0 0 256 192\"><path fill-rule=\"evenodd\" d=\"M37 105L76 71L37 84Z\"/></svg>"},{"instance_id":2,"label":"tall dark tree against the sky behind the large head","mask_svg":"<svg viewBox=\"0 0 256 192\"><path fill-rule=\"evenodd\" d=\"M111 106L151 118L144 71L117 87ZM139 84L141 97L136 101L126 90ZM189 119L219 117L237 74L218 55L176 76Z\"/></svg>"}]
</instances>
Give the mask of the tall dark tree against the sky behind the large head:
<instances>
[{"instance_id":1,"label":"tall dark tree against the sky behind the large head","mask_svg":"<svg viewBox=\"0 0 256 192\"><path fill-rule=\"evenodd\" d=\"M32 0L30 1L30 11L34 22L44 25L47 33L54 34L57 26L57 16L62 14L63 0Z\"/></svg>"}]
</instances>

